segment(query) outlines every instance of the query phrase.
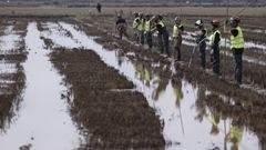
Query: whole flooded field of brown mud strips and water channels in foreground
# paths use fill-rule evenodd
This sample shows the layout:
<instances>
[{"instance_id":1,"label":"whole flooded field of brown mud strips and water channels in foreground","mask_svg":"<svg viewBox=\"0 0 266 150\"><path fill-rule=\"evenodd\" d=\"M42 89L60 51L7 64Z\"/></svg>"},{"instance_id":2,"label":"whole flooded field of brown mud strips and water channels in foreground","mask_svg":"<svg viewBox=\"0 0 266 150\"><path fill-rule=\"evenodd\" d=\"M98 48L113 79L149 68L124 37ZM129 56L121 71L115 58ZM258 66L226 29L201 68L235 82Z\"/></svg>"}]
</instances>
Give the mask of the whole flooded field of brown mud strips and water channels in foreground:
<instances>
[{"instance_id":1,"label":"whole flooded field of brown mud strips and water channels in foreground","mask_svg":"<svg viewBox=\"0 0 266 150\"><path fill-rule=\"evenodd\" d=\"M109 28L69 18L1 27L1 149L266 150L262 59L246 56L238 87L229 52L221 79L197 57L187 68L190 32L173 62Z\"/></svg>"}]
</instances>

